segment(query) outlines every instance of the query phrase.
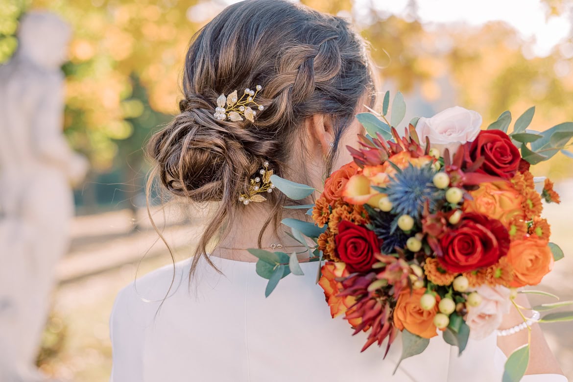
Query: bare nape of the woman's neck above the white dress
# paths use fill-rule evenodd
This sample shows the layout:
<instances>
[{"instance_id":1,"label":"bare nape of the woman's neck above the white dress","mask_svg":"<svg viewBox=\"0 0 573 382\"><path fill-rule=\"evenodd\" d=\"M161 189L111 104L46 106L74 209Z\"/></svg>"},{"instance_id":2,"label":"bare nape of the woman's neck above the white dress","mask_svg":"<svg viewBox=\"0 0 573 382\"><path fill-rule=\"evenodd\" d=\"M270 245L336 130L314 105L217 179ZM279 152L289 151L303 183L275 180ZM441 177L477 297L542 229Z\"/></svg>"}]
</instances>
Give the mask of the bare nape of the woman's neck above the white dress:
<instances>
[{"instance_id":1,"label":"bare nape of the woman's neck above the white dress","mask_svg":"<svg viewBox=\"0 0 573 382\"><path fill-rule=\"evenodd\" d=\"M282 211L283 218L303 219L304 210L287 210ZM240 206L240 212L230 223L229 234L218 243L213 250L213 255L223 258L229 258L238 261L256 262L257 257L250 254L246 249L258 248L258 236L270 214L270 208L265 203L251 203L248 206ZM278 227L269 225L262 236L261 247L269 251L282 251L292 253L293 251L301 252L304 247L295 239L285 234L290 229L284 225ZM281 245L282 248L272 249L272 245Z\"/></svg>"}]
</instances>

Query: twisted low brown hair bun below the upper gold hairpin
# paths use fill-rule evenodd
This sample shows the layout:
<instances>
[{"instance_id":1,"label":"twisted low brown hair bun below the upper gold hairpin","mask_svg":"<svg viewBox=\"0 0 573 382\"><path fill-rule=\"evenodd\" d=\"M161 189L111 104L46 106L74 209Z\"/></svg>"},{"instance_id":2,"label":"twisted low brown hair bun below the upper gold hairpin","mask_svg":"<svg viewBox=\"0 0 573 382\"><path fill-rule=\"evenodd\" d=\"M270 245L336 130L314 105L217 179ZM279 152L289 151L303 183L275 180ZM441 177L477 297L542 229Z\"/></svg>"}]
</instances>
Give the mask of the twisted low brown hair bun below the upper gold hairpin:
<instances>
[{"instance_id":1,"label":"twisted low brown hair bun below the upper gold hairpin","mask_svg":"<svg viewBox=\"0 0 573 382\"><path fill-rule=\"evenodd\" d=\"M180 101L182 112L151 137L149 155L159 179L172 194L196 202L236 194L252 174L252 158L243 145L219 125L201 97Z\"/></svg>"}]
</instances>

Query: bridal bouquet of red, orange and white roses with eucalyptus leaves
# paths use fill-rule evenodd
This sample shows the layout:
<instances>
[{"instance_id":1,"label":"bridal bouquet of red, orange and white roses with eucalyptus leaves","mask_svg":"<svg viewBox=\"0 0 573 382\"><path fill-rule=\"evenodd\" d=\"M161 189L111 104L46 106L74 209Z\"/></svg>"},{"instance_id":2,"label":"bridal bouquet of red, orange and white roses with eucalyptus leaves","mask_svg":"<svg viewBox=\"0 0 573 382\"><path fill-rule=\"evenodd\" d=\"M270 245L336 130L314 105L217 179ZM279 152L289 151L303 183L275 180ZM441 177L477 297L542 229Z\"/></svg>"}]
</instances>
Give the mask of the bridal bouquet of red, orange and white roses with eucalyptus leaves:
<instances>
[{"instance_id":1,"label":"bridal bouquet of red, orange and white roses with eucalyptus leaves","mask_svg":"<svg viewBox=\"0 0 573 382\"><path fill-rule=\"evenodd\" d=\"M382 113L358 115L368 135L360 137L360 149L348 148L354 161L326 180L314 205L298 206L309 209L314 224L283 220L311 261L320 262L318 283L332 317L343 314L354 334L366 333L362 351L387 338L387 353L402 332L401 360L423 352L439 332L461 353L469 337L499 328L511 305L524 323L499 335L533 321L573 320L570 312L531 317L573 302L527 312L514 300L517 293L547 295L518 288L537 285L563 257L541 218L541 200L559 203L559 195L529 166L558 151L573 156L564 149L573 123L531 131L531 108L508 134L509 112L481 130L478 113L455 107L415 118L399 135L401 94L391 121L388 104L386 93ZM271 180L292 199L315 191L276 175ZM285 275L302 273L296 253L250 252L259 258L257 273L269 279L267 296ZM513 353L504 381L521 379L528 357L529 345Z\"/></svg>"}]
</instances>

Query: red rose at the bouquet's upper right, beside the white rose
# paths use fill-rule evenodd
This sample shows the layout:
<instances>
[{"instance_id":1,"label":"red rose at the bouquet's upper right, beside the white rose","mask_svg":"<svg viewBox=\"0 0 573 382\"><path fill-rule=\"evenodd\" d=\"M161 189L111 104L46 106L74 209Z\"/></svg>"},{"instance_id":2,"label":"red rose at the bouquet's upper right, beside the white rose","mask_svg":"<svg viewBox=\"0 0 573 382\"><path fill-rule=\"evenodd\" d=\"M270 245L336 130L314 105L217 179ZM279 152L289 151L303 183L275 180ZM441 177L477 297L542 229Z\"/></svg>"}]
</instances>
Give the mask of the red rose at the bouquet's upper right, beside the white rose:
<instances>
[{"instance_id":1,"label":"red rose at the bouquet's upper right, beside the white rose","mask_svg":"<svg viewBox=\"0 0 573 382\"><path fill-rule=\"evenodd\" d=\"M513 178L521 161L519 149L511 138L501 130L481 131L476 140L466 143L466 162L468 167L480 157L484 163L476 170L482 174Z\"/></svg>"}]
</instances>

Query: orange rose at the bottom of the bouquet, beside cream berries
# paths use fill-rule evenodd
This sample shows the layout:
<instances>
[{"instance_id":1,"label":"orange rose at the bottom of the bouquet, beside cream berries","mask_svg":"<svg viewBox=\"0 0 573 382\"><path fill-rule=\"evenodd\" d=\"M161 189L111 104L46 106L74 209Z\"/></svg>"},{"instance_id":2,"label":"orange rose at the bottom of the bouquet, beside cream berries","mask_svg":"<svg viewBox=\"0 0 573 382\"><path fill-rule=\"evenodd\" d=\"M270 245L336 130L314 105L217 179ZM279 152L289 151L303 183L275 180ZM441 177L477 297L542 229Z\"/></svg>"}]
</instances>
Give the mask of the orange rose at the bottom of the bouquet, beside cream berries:
<instances>
[{"instance_id":1,"label":"orange rose at the bottom of the bouquet, beside cream berries","mask_svg":"<svg viewBox=\"0 0 573 382\"><path fill-rule=\"evenodd\" d=\"M414 289L411 292L409 288L402 290L396 308L394 308L394 325L399 330L406 328L417 336L431 338L438 335L434 325L438 304L435 304L434 309L423 310L420 306L420 299L425 292L425 288Z\"/></svg>"}]
</instances>

